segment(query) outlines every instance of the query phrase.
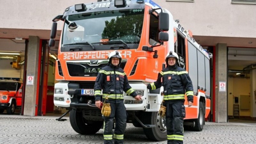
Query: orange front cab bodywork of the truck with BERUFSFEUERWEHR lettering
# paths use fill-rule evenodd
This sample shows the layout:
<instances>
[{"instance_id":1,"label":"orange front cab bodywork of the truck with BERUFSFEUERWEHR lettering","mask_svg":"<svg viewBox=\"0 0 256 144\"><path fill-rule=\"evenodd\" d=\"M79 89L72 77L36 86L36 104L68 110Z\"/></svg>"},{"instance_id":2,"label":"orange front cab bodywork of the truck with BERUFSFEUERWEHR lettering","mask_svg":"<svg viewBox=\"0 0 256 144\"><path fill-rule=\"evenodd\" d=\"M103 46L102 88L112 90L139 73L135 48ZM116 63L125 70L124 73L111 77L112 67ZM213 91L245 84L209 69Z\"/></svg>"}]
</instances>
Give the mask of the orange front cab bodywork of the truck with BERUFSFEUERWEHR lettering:
<instances>
[{"instance_id":1,"label":"orange front cab bodywork of the truck with BERUFSFEUERWEHR lettering","mask_svg":"<svg viewBox=\"0 0 256 144\"><path fill-rule=\"evenodd\" d=\"M127 59L126 66L124 68L125 73L130 81L140 80L140 81L155 81L158 73L162 70L162 64L165 63L165 55L167 52L167 42L164 42L164 45L157 47L158 58L154 59L154 52L142 51L143 46L149 45L148 40L148 27L149 27L149 11L148 6L145 6L145 15L144 22L142 27L141 39L138 49L125 49L118 50L120 53L129 53L130 57L123 57L123 59ZM61 43L61 40L60 40ZM60 45L61 46L61 45ZM59 46L59 47L60 47ZM112 51L112 50L111 50ZM58 62L56 62L55 66L55 78L56 80L67 80L67 81L95 81L96 77L82 77L82 76L70 76L68 73L67 61L72 60L106 60L108 58L108 54L111 52L108 51L86 51L86 52L60 52L60 48L58 51L58 59L60 61L60 65L62 68L63 76L59 75ZM97 55L101 55L101 58L97 58ZM139 62L137 65L137 69L134 75L129 76L134 63L137 58L139 58ZM144 59L143 59L144 58ZM147 58L147 59L146 59Z\"/></svg>"}]
</instances>

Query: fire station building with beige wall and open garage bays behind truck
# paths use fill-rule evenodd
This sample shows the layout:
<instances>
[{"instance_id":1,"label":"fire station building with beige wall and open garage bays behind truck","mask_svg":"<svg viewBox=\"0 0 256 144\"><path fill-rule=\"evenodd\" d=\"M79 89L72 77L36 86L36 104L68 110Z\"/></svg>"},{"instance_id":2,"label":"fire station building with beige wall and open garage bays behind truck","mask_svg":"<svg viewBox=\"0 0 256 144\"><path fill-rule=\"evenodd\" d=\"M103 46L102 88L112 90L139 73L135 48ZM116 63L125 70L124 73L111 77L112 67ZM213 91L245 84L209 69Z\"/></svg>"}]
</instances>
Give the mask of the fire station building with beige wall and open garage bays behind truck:
<instances>
[{"instance_id":1,"label":"fire station building with beige wall and open garage bays behind truck","mask_svg":"<svg viewBox=\"0 0 256 144\"><path fill-rule=\"evenodd\" d=\"M41 116L65 111L53 104L58 55L48 47L52 19L71 5L93 2L97 0L1 1L0 77L23 82L22 106L16 113ZM256 120L256 1L154 2L168 9L185 30L193 33L196 42L213 54L208 120ZM59 21L53 49L58 49L62 25Z\"/></svg>"}]
</instances>

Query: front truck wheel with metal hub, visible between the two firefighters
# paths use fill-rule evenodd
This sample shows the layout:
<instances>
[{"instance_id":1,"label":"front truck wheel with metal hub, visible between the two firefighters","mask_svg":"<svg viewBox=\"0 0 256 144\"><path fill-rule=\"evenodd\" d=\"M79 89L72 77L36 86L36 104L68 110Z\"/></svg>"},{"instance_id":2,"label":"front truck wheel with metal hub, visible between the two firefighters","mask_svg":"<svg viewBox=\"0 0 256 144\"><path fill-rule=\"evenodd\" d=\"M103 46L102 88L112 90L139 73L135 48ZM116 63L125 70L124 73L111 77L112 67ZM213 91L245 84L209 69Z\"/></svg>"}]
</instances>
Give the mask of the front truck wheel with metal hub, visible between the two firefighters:
<instances>
[{"instance_id":1,"label":"front truck wheel with metal hub, visible between the two firefighters","mask_svg":"<svg viewBox=\"0 0 256 144\"><path fill-rule=\"evenodd\" d=\"M167 139L165 117L161 118L158 112L143 112L141 121L144 125L156 125L153 128L143 128L148 139L154 141L163 141Z\"/></svg>"}]
</instances>

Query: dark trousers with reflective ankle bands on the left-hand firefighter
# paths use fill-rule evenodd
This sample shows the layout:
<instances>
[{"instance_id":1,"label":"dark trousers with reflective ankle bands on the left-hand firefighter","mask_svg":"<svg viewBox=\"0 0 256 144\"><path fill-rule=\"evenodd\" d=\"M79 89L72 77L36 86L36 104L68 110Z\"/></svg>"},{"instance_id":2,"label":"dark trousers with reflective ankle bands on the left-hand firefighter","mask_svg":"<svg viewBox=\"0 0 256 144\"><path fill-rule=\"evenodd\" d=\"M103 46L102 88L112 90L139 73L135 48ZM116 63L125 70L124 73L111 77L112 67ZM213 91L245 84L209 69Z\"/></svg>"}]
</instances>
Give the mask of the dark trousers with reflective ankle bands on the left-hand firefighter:
<instances>
[{"instance_id":1,"label":"dark trousers with reflective ankle bands on the left-hand firefighter","mask_svg":"<svg viewBox=\"0 0 256 144\"><path fill-rule=\"evenodd\" d=\"M110 103L111 114L109 117L104 117L103 137L104 143L113 143L112 139L105 139L105 135L113 135L113 119L116 119L116 127L114 130L114 142L124 143L124 131L126 128L126 109L124 103ZM107 138L107 137L106 137Z\"/></svg>"}]
</instances>

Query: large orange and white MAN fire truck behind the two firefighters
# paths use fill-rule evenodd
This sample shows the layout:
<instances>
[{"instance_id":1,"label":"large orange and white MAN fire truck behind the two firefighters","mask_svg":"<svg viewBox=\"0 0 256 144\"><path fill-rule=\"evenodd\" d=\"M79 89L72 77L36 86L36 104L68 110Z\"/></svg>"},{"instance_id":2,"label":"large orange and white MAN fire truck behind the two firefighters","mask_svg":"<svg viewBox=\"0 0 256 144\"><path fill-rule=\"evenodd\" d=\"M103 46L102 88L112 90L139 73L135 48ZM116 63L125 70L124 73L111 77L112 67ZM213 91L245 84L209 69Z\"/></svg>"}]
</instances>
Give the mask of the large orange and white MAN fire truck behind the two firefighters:
<instances>
[{"instance_id":1,"label":"large orange and white MAN fire truck behind the two firefighters","mask_svg":"<svg viewBox=\"0 0 256 144\"><path fill-rule=\"evenodd\" d=\"M63 21L56 60L54 104L68 109L70 124L80 134L97 133L103 124L95 107L94 83L101 68L108 64L108 54L122 54L120 67L137 94L136 101L124 93L127 123L142 127L148 139L166 140L165 118L158 110L161 92L148 90L165 67L170 51L179 55L179 65L188 71L194 87L194 103L187 107L184 125L202 131L210 112L210 57L172 14L152 0L98 0L76 4L53 18L49 47L55 44L57 21Z\"/></svg>"}]
</instances>

